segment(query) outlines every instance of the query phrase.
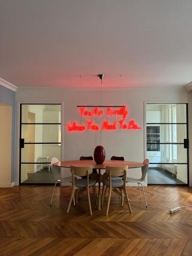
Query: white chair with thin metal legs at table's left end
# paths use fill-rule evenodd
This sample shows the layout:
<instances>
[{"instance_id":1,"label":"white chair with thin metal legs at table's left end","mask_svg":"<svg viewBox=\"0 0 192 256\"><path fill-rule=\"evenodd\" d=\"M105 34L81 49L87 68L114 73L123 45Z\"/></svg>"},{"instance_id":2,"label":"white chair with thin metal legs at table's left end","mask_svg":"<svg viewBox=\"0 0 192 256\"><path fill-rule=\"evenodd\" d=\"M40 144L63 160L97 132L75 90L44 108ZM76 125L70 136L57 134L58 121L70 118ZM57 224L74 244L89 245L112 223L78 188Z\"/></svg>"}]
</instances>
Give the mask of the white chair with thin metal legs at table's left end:
<instances>
[{"instance_id":1,"label":"white chair with thin metal legs at table's left end","mask_svg":"<svg viewBox=\"0 0 192 256\"><path fill-rule=\"evenodd\" d=\"M61 178L60 168L58 166L54 165L54 163L58 163L58 162L59 162L59 160L56 157L53 157L51 159L51 170L52 170L52 173L53 173L53 176L54 176L55 185L54 185L54 188L53 188L53 194L52 194L52 197L51 197L50 206L52 204L53 195L55 193L55 187L56 187L57 183L60 183L60 186L61 186L61 183L65 181L65 178ZM59 195L59 197L60 197L60 195ZM75 198L73 198L73 204L75 205Z\"/></svg>"}]
</instances>

